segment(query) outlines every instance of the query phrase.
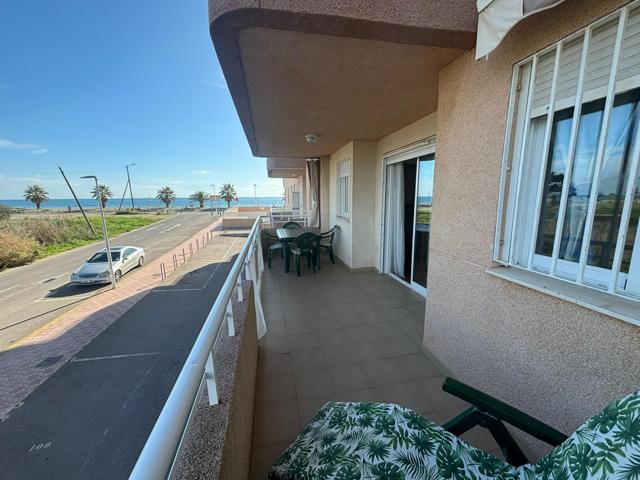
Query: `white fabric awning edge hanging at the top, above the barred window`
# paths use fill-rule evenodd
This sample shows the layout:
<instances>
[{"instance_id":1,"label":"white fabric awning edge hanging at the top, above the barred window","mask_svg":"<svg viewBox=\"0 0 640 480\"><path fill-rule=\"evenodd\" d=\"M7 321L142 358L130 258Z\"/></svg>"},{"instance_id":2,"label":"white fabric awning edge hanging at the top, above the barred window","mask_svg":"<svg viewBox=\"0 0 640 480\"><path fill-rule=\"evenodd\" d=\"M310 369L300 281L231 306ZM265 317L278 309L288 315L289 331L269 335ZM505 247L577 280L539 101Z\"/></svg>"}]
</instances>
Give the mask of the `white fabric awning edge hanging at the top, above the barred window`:
<instances>
[{"instance_id":1,"label":"white fabric awning edge hanging at the top, above the barred window","mask_svg":"<svg viewBox=\"0 0 640 480\"><path fill-rule=\"evenodd\" d=\"M564 0L478 0L476 60L489 55L513 26Z\"/></svg>"}]
</instances>

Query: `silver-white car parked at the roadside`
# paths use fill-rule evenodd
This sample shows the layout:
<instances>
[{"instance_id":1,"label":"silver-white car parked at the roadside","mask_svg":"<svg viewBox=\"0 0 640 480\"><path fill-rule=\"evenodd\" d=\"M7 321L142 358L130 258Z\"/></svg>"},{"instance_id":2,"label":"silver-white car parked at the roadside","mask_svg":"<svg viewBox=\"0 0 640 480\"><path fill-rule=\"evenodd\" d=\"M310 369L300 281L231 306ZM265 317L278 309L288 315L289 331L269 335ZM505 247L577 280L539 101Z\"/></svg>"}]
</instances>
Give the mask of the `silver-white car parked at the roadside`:
<instances>
[{"instance_id":1,"label":"silver-white car parked at the roadside","mask_svg":"<svg viewBox=\"0 0 640 480\"><path fill-rule=\"evenodd\" d=\"M139 247L111 247L111 261L116 281L122 275L136 267L144 265L144 250ZM94 285L110 283L109 261L107 249L96 252L84 265L71 274L71 283L77 285Z\"/></svg>"}]
</instances>

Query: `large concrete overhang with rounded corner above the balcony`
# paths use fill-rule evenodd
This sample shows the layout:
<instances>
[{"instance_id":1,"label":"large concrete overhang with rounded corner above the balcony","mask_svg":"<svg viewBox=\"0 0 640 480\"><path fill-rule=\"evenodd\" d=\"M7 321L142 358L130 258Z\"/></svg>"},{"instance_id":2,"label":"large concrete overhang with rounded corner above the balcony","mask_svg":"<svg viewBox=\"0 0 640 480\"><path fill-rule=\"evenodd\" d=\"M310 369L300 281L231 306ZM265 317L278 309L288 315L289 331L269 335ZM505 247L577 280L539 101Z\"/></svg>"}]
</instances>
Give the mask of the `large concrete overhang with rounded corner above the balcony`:
<instances>
[{"instance_id":1,"label":"large concrete overhang with rounded corner above the balcony","mask_svg":"<svg viewBox=\"0 0 640 480\"><path fill-rule=\"evenodd\" d=\"M209 0L209 16L261 157L328 155L434 112L438 72L474 46L477 26L473 0Z\"/></svg>"}]
</instances>

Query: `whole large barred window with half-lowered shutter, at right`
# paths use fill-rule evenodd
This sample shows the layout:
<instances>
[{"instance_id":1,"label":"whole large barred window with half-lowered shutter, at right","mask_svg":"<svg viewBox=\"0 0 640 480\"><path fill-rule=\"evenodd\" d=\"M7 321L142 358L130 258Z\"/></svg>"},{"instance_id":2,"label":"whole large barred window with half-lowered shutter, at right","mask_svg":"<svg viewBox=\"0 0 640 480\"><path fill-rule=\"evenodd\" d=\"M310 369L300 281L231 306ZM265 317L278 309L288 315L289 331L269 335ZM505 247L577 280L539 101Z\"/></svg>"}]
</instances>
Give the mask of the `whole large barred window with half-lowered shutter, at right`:
<instances>
[{"instance_id":1,"label":"whole large barred window with half-lowered shutter, at right","mask_svg":"<svg viewBox=\"0 0 640 480\"><path fill-rule=\"evenodd\" d=\"M640 6L514 68L494 259L640 299Z\"/></svg>"}]
</instances>

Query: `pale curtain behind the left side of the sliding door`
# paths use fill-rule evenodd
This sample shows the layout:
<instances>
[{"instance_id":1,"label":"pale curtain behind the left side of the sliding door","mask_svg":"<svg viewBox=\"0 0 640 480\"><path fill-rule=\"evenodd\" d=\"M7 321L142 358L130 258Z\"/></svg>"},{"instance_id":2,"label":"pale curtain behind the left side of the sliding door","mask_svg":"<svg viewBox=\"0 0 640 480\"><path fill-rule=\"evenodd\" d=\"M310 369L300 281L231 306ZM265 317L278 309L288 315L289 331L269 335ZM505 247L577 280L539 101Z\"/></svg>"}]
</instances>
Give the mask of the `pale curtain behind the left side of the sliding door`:
<instances>
[{"instance_id":1,"label":"pale curtain behind the left side of the sliding door","mask_svg":"<svg viewBox=\"0 0 640 480\"><path fill-rule=\"evenodd\" d=\"M404 277L404 165L387 166L384 271Z\"/></svg>"}]
</instances>

